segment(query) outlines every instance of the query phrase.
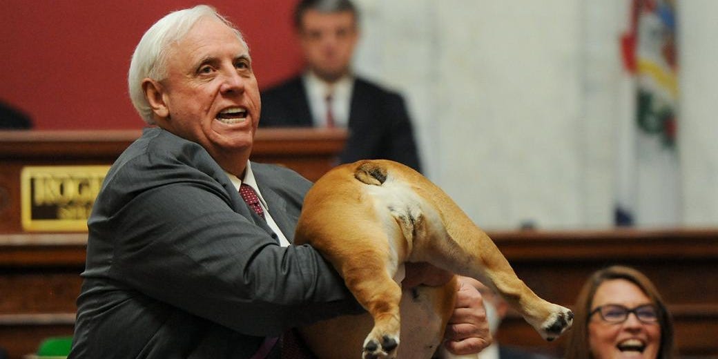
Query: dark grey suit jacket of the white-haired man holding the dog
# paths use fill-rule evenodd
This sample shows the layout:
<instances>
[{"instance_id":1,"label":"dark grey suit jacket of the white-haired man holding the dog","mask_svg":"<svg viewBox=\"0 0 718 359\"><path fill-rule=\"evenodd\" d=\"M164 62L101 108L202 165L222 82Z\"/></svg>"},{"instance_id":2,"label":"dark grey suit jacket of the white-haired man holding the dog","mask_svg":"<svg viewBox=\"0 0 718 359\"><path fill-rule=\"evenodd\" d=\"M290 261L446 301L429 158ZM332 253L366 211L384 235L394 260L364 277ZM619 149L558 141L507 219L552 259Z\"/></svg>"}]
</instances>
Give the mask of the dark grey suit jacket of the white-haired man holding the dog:
<instances>
[{"instance_id":1,"label":"dark grey suit jacket of the white-haired man holding the dog","mask_svg":"<svg viewBox=\"0 0 718 359\"><path fill-rule=\"evenodd\" d=\"M289 241L311 183L252 164ZM249 358L265 336L359 312L309 246L281 248L199 144L146 129L88 220L70 358Z\"/></svg>"}]
</instances>

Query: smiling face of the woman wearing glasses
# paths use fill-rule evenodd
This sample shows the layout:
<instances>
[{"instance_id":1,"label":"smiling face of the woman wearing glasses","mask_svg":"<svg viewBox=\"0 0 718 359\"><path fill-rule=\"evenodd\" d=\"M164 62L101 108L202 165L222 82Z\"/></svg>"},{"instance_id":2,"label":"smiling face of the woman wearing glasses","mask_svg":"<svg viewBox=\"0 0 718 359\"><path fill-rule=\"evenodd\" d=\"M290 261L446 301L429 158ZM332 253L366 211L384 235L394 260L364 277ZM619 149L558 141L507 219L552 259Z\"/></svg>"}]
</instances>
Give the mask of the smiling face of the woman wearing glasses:
<instances>
[{"instance_id":1,"label":"smiling face of the woman wearing glasses","mask_svg":"<svg viewBox=\"0 0 718 359\"><path fill-rule=\"evenodd\" d=\"M591 305L592 311L606 304L618 304L633 309L654 304L638 286L625 279L611 279L598 286ZM593 358L654 359L661 343L659 322L642 322L629 313L623 322L606 322L595 312L589 317L589 346Z\"/></svg>"}]
</instances>

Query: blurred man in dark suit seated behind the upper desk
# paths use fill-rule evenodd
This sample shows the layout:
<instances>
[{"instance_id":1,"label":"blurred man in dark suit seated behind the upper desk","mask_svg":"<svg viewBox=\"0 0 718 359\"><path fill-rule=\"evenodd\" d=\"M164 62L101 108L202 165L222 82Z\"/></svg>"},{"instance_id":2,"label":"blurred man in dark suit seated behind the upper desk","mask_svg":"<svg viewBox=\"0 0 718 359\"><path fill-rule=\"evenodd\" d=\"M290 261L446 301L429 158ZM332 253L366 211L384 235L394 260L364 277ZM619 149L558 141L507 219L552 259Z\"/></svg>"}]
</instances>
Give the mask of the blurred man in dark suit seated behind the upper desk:
<instances>
[{"instance_id":1,"label":"blurred man in dark suit seated behind the upper desk","mask_svg":"<svg viewBox=\"0 0 718 359\"><path fill-rule=\"evenodd\" d=\"M349 0L303 0L294 26L307 70L262 93L263 127L348 129L341 163L392 159L421 171L404 98L351 73L359 38Z\"/></svg>"}]
</instances>

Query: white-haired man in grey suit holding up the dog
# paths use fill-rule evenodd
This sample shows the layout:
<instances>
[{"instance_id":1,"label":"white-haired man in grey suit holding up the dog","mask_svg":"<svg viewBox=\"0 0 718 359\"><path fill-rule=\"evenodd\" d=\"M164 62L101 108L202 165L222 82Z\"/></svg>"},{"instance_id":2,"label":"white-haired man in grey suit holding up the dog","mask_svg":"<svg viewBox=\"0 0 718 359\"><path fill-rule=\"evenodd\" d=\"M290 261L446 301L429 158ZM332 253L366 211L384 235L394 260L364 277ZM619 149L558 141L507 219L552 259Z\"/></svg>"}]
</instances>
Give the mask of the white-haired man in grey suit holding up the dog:
<instances>
[{"instance_id":1,"label":"white-haired man in grey suit holding up the dog","mask_svg":"<svg viewBox=\"0 0 718 359\"><path fill-rule=\"evenodd\" d=\"M209 6L167 15L137 45L129 90L156 126L95 200L69 358L279 358L290 328L363 311L317 251L289 245L311 183L248 161L261 102L237 29ZM447 333L458 353L488 337L469 287Z\"/></svg>"}]
</instances>

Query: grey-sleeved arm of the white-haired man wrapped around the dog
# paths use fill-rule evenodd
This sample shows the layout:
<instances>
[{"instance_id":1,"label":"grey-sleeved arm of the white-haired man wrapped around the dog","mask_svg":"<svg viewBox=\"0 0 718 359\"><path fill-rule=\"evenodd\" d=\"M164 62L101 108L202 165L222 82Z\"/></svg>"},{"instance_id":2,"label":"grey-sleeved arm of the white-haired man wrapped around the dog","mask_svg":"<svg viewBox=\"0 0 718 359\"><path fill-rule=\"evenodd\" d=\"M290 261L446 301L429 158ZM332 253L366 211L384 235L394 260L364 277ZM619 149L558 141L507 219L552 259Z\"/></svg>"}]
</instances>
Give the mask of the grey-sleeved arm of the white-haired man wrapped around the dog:
<instances>
[{"instance_id":1,"label":"grey-sleeved arm of the white-haired man wrapped around the dog","mask_svg":"<svg viewBox=\"0 0 718 359\"><path fill-rule=\"evenodd\" d=\"M358 311L317 251L281 248L204 185L158 187L123 210L111 274L149 297L253 335Z\"/></svg>"}]
</instances>

